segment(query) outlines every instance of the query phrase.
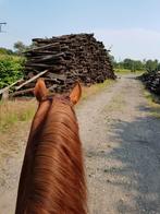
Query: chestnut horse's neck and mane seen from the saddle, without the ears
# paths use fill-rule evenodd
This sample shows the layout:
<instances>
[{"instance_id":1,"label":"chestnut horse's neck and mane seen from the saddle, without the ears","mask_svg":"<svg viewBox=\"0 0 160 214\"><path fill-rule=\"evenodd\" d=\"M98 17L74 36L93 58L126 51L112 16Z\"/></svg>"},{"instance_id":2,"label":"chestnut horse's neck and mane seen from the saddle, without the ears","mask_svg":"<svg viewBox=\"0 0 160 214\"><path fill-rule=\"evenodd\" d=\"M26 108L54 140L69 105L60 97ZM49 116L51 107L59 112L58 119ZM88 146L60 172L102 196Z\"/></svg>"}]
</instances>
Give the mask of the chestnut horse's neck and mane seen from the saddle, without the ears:
<instances>
[{"instance_id":1,"label":"chestnut horse's neck and mane seen from the saddle, without the ears","mask_svg":"<svg viewBox=\"0 0 160 214\"><path fill-rule=\"evenodd\" d=\"M46 98L34 117L15 214L86 214L82 144L67 97Z\"/></svg>"}]
</instances>

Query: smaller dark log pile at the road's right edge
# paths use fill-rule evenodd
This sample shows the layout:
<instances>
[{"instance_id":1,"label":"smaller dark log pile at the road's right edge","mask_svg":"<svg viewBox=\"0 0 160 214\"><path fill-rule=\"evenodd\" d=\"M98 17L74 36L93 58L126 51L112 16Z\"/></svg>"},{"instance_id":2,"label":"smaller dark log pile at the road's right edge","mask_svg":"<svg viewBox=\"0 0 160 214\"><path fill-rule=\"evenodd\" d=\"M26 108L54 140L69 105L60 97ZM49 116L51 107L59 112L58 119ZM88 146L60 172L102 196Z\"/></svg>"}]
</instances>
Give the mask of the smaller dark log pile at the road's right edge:
<instances>
[{"instance_id":1,"label":"smaller dark log pile at the road's right edge","mask_svg":"<svg viewBox=\"0 0 160 214\"><path fill-rule=\"evenodd\" d=\"M160 71L146 72L140 76L146 87L160 95Z\"/></svg>"}]
</instances>

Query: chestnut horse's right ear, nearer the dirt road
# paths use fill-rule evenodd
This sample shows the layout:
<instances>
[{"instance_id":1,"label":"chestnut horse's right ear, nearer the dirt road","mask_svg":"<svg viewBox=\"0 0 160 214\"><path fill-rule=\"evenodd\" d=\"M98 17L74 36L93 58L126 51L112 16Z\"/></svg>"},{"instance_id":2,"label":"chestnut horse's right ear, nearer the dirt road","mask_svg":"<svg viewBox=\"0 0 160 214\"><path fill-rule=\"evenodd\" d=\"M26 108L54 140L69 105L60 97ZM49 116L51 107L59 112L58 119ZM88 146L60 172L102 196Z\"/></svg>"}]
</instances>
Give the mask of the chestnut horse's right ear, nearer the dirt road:
<instances>
[{"instance_id":1,"label":"chestnut horse's right ear, nearer the dirt road","mask_svg":"<svg viewBox=\"0 0 160 214\"><path fill-rule=\"evenodd\" d=\"M75 105L82 96L82 86L77 82L72 92L70 93L70 100Z\"/></svg>"}]
</instances>

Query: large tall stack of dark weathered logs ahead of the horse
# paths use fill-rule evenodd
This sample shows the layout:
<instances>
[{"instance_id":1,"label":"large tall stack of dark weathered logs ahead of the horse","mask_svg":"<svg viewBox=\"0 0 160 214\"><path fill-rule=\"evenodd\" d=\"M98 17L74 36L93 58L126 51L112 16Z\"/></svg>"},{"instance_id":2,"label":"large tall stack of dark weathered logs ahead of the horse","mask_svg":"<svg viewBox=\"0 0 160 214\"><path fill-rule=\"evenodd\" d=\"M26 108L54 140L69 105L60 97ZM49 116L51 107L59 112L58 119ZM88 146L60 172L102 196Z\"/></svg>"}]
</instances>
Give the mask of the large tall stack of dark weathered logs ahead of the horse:
<instances>
[{"instance_id":1,"label":"large tall stack of dark weathered logs ahead of the horse","mask_svg":"<svg viewBox=\"0 0 160 214\"><path fill-rule=\"evenodd\" d=\"M94 34L33 39L36 48L25 54L25 80L47 70L42 78L52 92L67 92L76 80L85 85L115 79L108 50ZM22 90L33 88L30 82Z\"/></svg>"}]
</instances>

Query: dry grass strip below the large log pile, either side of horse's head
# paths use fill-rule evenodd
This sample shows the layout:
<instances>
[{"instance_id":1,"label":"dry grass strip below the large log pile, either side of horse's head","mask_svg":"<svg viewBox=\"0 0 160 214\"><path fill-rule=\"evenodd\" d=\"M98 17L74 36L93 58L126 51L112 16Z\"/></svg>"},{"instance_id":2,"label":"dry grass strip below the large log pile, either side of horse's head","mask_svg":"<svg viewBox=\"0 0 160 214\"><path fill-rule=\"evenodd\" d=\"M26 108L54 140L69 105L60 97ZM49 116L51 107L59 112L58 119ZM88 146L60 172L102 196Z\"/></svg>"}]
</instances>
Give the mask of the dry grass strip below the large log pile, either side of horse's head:
<instances>
[{"instance_id":1,"label":"dry grass strip below the large log pile, either side of horse's head","mask_svg":"<svg viewBox=\"0 0 160 214\"><path fill-rule=\"evenodd\" d=\"M82 100L100 92L104 87L111 85L114 81L107 80L103 83L83 87ZM37 107L35 98L29 100L7 100L0 102L0 132L7 132L12 129L17 122L28 121L33 118Z\"/></svg>"}]
</instances>

